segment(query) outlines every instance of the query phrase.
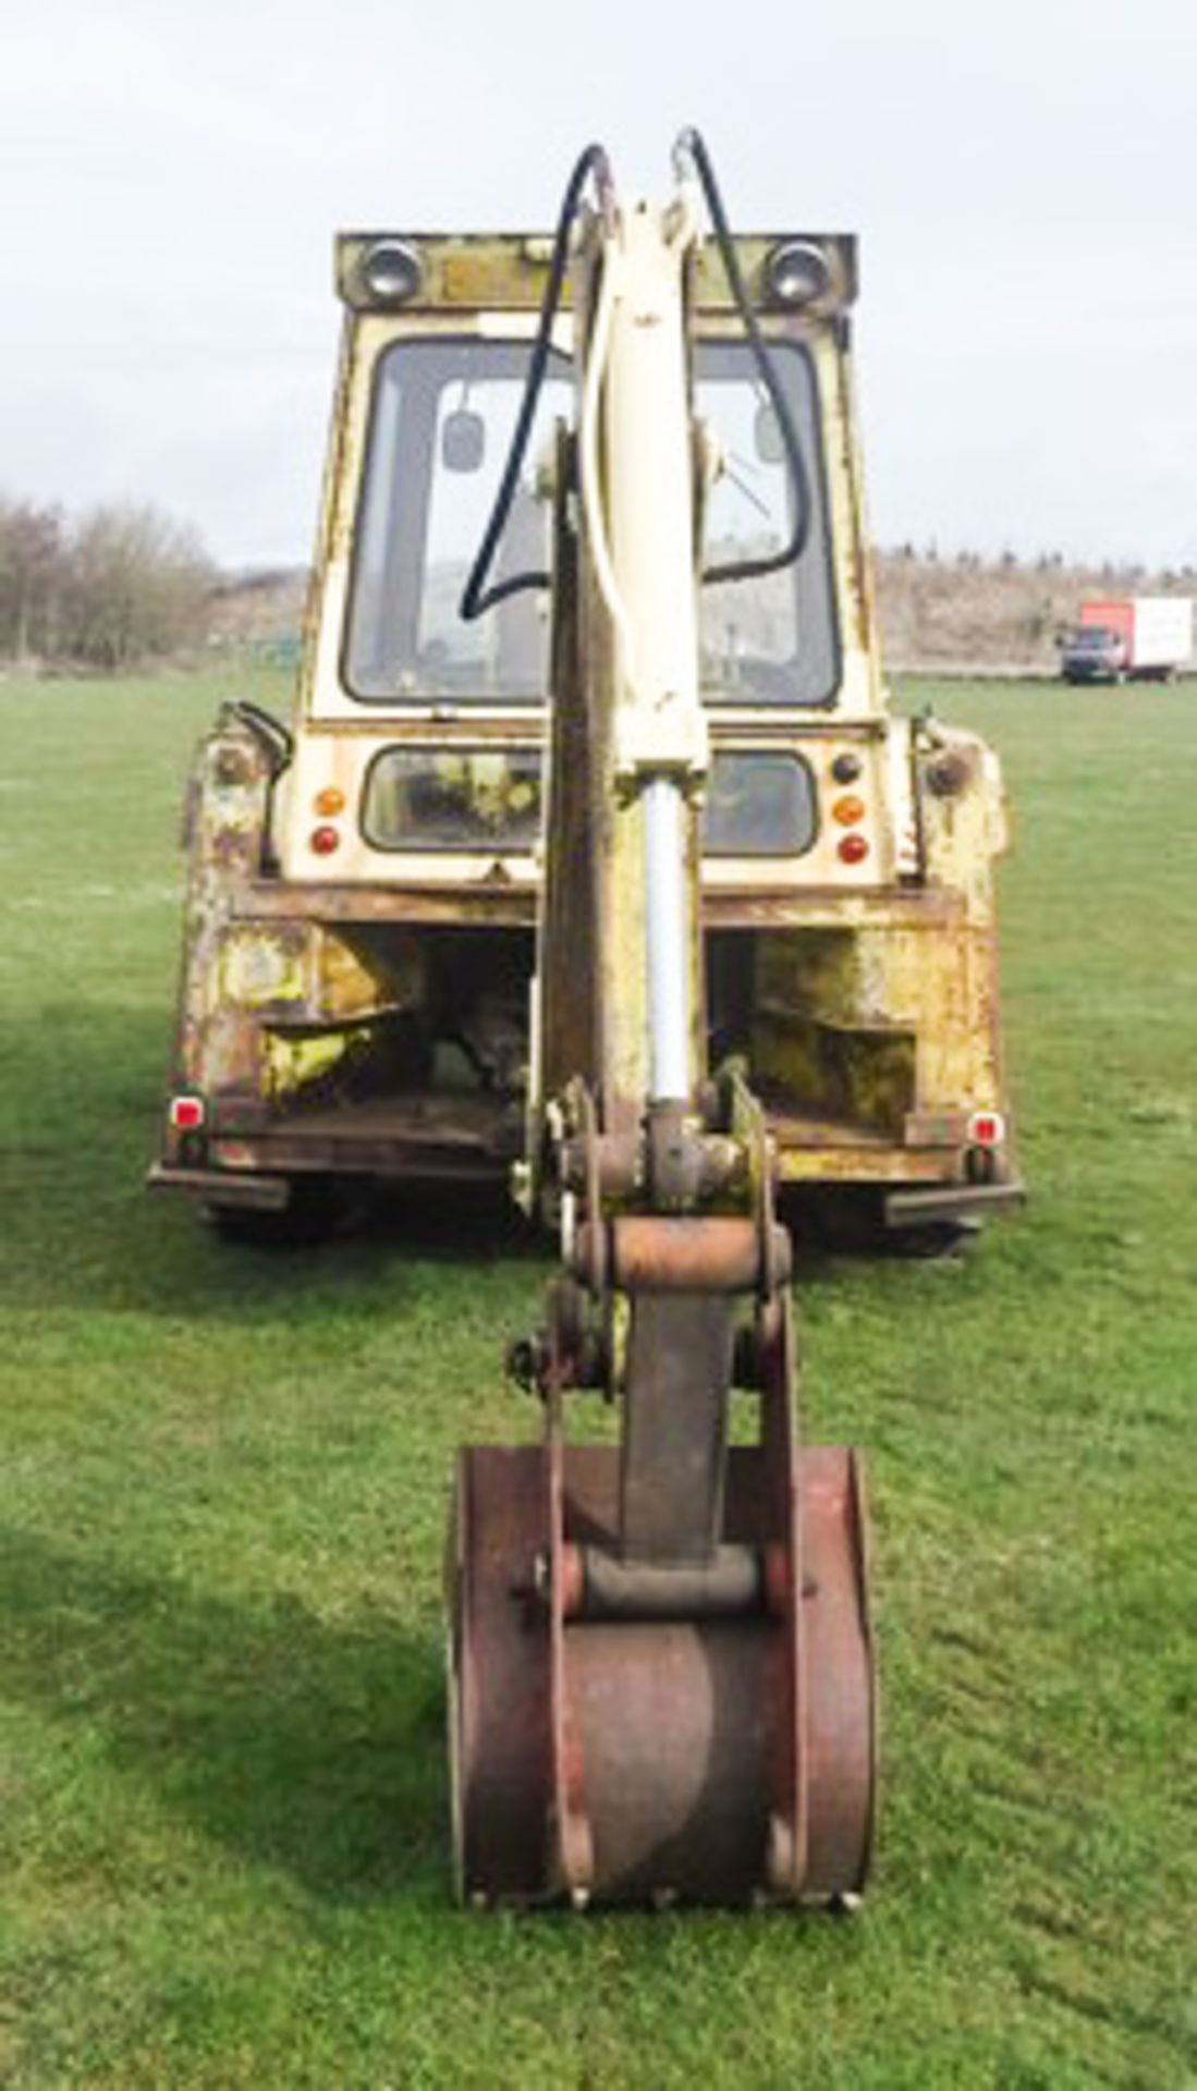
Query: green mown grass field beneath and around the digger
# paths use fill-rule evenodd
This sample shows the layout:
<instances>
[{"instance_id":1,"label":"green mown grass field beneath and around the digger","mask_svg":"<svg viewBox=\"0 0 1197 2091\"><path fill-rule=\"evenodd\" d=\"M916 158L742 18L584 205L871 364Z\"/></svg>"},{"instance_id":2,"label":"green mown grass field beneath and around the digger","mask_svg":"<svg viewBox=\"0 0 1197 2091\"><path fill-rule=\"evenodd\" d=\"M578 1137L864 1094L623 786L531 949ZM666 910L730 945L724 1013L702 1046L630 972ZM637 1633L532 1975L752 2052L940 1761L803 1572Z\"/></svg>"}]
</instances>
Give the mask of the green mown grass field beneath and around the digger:
<instances>
[{"instance_id":1,"label":"green mown grass field beneath and around the digger","mask_svg":"<svg viewBox=\"0 0 1197 2091\"><path fill-rule=\"evenodd\" d=\"M536 1430L540 1259L477 1213L295 1263L142 1196L216 686L0 688L6 2085L1197 2085L1197 688L935 694L1017 805L1034 1204L801 1286L885 1811L860 1920L795 1922L450 1907L450 1453Z\"/></svg>"}]
</instances>

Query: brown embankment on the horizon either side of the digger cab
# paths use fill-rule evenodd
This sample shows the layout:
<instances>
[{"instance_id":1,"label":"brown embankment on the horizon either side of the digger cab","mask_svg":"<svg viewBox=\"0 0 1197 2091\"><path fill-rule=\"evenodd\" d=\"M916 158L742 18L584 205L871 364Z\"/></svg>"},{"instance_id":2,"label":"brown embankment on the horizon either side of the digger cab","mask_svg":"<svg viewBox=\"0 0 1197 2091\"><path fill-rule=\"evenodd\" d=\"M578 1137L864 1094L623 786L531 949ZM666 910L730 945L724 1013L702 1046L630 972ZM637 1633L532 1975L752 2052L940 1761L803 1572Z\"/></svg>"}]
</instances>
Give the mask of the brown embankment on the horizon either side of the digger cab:
<instances>
[{"instance_id":1,"label":"brown embankment on the horizon either side of the digger cab","mask_svg":"<svg viewBox=\"0 0 1197 2091\"><path fill-rule=\"evenodd\" d=\"M1086 596L1195 596L1197 569L1067 567L1059 558L940 558L910 548L875 554L881 644L891 669L1040 671L1057 667L1057 634ZM230 575L211 598L211 642L262 652L297 648L308 573Z\"/></svg>"}]
</instances>

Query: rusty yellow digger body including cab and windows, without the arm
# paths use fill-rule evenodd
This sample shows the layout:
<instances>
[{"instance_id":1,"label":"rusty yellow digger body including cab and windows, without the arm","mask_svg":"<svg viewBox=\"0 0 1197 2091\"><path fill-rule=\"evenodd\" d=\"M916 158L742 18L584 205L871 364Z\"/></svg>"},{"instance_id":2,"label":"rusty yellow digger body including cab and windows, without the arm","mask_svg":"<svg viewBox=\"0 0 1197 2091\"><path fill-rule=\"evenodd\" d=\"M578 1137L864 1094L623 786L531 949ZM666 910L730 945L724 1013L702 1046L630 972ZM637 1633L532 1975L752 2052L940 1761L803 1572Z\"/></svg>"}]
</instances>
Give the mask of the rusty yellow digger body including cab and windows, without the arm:
<instances>
[{"instance_id":1,"label":"rusty yellow digger body including cab and windows, without the arm","mask_svg":"<svg viewBox=\"0 0 1197 2091\"><path fill-rule=\"evenodd\" d=\"M739 1056L783 1184L891 1225L1017 1196L1000 1075L998 761L889 709L852 395L856 243L737 255L799 433L799 498L714 245L693 282L712 1066ZM197 755L184 966L155 1188L220 1219L339 1181L504 1177L523 1148L552 502L569 500L573 316L506 487L498 581L462 588L525 406L548 240L345 234L343 349L289 723L230 703ZM726 575L726 577L720 577ZM735 577L732 577L735 575Z\"/></svg>"}]
</instances>

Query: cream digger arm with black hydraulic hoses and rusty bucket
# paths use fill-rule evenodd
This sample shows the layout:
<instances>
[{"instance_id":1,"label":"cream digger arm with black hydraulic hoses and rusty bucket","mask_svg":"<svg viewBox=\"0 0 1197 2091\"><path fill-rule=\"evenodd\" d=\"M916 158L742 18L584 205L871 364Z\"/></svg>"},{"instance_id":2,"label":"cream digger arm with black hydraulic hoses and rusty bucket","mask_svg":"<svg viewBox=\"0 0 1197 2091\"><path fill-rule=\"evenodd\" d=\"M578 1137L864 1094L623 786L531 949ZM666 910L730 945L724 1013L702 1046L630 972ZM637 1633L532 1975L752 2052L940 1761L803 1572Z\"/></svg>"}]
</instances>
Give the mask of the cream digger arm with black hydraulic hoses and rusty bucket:
<instances>
[{"instance_id":1,"label":"cream digger arm with black hydraulic hoses and rusty bucket","mask_svg":"<svg viewBox=\"0 0 1197 2091\"><path fill-rule=\"evenodd\" d=\"M450 1545L456 1867L483 1903L827 1901L868 1869L860 1462L799 1449L766 1121L735 1069L705 1064L699 590L720 460L691 385L703 205L737 291L701 138L682 136L663 205L622 205L605 155L582 155L529 374L532 395L569 266L578 408L548 473L521 1175L559 1221L561 1273L517 1355L544 1439L462 1451ZM795 468L785 562L801 548L799 450L743 284L739 303ZM488 588L500 535L502 489L467 615L544 579ZM730 1443L735 1386L755 1397L751 1443ZM567 1441L588 1393L613 1405L615 1445Z\"/></svg>"}]
</instances>

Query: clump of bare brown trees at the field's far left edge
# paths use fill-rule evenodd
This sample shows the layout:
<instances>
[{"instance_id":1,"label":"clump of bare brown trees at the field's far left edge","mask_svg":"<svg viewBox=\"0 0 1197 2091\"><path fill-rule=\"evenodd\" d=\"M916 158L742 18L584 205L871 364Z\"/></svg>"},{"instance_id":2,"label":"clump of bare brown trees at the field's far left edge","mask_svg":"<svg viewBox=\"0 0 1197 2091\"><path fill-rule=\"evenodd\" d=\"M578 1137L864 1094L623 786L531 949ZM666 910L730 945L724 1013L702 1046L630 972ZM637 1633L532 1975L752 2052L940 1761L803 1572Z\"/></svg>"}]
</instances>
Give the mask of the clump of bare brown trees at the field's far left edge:
<instances>
[{"instance_id":1,"label":"clump of bare brown trees at the field's far left edge","mask_svg":"<svg viewBox=\"0 0 1197 2091\"><path fill-rule=\"evenodd\" d=\"M119 673L203 642L216 569L146 502L80 516L0 496L0 661Z\"/></svg>"}]
</instances>

